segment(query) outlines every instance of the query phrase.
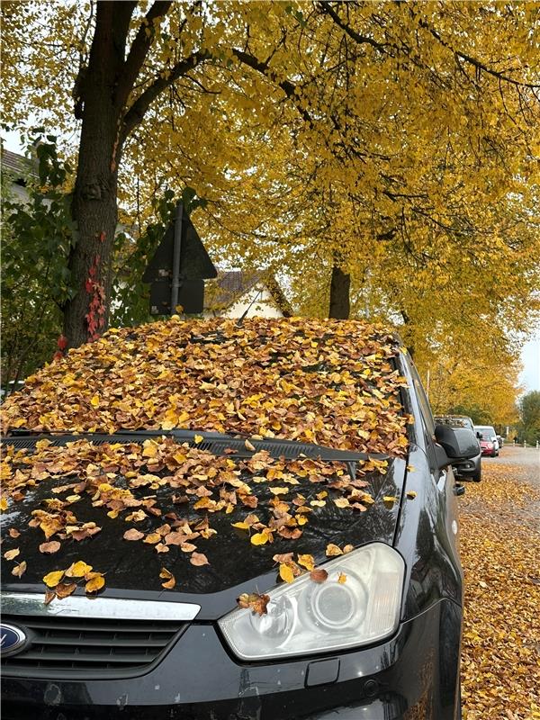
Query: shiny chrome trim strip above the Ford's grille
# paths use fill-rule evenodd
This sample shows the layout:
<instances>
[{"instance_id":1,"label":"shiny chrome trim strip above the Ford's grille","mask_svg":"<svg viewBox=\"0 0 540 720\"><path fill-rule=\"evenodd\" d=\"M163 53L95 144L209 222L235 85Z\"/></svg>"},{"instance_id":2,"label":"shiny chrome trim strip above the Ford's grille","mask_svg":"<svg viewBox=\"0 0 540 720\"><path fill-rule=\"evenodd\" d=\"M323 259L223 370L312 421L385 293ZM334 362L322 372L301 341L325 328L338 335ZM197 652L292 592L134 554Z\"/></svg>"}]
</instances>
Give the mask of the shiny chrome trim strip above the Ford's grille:
<instances>
[{"instance_id":1,"label":"shiny chrome trim strip above the Ford's grille","mask_svg":"<svg viewBox=\"0 0 540 720\"><path fill-rule=\"evenodd\" d=\"M43 602L37 593L3 592L2 612L5 615L37 615L89 617L117 620L194 620L200 605L160 600L130 600L118 598L83 598L70 596Z\"/></svg>"}]
</instances>

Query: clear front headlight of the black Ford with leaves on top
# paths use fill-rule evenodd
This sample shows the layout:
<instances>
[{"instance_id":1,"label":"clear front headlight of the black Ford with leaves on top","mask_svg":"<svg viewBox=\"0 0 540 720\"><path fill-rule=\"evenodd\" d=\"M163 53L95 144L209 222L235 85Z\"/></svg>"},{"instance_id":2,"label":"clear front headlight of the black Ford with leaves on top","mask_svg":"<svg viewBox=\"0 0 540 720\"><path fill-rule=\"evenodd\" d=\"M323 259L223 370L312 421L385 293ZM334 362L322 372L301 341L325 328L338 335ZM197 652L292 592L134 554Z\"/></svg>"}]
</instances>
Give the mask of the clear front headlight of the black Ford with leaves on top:
<instances>
[{"instance_id":1,"label":"clear front headlight of the black Ford with leaves on top","mask_svg":"<svg viewBox=\"0 0 540 720\"><path fill-rule=\"evenodd\" d=\"M282 658L371 644L392 635L400 621L405 570L400 554L373 543L323 567L329 573L324 582L312 581L308 572L270 590L266 615L238 608L221 618L221 632L233 653L244 660Z\"/></svg>"}]
</instances>

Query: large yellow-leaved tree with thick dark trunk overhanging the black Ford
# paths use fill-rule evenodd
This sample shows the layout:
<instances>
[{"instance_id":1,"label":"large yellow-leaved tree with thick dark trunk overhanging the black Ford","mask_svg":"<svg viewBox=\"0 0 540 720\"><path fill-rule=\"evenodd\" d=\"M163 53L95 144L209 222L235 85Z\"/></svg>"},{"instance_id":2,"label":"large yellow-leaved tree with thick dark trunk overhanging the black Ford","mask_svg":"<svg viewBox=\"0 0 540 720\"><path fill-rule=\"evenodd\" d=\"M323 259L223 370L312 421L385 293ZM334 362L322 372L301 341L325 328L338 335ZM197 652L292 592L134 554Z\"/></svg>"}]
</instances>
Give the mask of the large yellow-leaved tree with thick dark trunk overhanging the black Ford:
<instances>
[{"instance_id":1,"label":"large yellow-leaved tree with thick dark trunk overhanging the black Ford","mask_svg":"<svg viewBox=\"0 0 540 720\"><path fill-rule=\"evenodd\" d=\"M9 111L20 117L30 99L73 127L57 99L71 88L82 123L72 344L106 324L119 177L132 216L130 178L151 198L163 166L209 198L201 221L221 247L271 257L293 278L319 258L334 316L376 298L420 318L411 277L420 293L437 274L444 307L453 278L468 293L495 261L499 298L527 302L538 238L535 6L157 2L144 14L130 2L97 3L94 17L93 6L55 4L34 49L23 31L36 5L4 5L19 60ZM32 64L35 84L22 75Z\"/></svg>"}]
</instances>

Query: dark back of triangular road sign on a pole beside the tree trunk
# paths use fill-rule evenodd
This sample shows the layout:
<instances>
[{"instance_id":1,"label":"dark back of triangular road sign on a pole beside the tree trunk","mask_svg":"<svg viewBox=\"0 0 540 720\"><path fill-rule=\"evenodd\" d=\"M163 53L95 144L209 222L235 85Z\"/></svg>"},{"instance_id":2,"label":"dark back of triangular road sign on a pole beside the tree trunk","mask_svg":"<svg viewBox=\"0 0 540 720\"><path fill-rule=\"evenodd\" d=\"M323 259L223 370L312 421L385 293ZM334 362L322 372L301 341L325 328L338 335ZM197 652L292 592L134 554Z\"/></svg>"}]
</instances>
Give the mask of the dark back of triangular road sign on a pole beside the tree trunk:
<instances>
[{"instance_id":1,"label":"dark back of triangular road sign on a pole beside the tree trunk","mask_svg":"<svg viewBox=\"0 0 540 720\"><path fill-rule=\"evenodd\" d=\"M184 204L178 202L175 222L142 275L143 283L150 283L150 314L173 315L178 305L187 314L202 312L204 278L217 275Z\"/></svg>"}]
</instances>

